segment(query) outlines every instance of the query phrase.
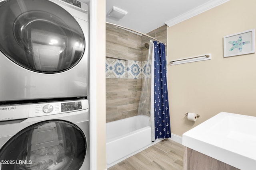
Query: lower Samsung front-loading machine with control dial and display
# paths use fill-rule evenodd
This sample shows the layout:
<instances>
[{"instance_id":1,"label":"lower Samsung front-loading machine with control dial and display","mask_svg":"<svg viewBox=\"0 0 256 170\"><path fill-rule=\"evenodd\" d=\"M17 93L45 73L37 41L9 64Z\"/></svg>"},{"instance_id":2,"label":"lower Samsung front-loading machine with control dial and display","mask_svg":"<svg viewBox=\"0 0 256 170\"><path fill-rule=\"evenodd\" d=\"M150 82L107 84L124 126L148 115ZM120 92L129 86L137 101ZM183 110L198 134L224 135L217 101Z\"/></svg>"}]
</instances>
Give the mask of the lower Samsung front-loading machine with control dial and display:
<instances>
[{"instance_id":1,"label":"lower Samsung front-loading machine with control dial and display","mask_svg":"<svg viewBox=\"0 0 256 170\"><path fill-rule=\"evenodd\" d=\"M89 170L88 100L0 106L0 170Z\"/></svg>"}]
</instances>

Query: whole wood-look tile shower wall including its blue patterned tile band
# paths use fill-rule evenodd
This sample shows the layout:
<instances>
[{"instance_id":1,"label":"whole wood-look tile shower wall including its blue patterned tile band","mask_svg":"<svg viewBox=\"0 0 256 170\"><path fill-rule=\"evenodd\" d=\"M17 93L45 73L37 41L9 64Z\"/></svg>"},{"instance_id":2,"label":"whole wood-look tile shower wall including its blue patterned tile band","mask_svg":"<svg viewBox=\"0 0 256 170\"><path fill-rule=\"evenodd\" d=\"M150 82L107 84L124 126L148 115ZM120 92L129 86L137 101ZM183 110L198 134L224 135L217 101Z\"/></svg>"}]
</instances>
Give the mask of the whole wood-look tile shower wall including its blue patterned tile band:
<instances>
[{"instance_id":1,"label":"whole wood-look tile shower wall including its blue patterned tile band","mask_svg":"<svg viewBox=\"0 0 256 170\"><path fill-rule=\"evenodd\" d=\"M150 33L166 42L166 26ZM138 114L142 82L148 71L144 43L149 40L106 24L106 122Z\"/></svg>"}]
</instances>

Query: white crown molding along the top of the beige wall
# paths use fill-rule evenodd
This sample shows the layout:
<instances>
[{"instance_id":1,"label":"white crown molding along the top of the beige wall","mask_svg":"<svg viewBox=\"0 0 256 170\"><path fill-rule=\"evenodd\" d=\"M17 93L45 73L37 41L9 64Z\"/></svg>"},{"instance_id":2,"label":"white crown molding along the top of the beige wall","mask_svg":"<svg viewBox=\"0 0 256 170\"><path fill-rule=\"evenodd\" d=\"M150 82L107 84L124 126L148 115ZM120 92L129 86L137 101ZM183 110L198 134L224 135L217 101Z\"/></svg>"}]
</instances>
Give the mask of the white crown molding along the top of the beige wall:
<instances>
[{"instance_id":1,"label":"white crown molding along the top of the beige wall","mask_svg":"<svg viewBox=\"0 0 256 170\"><path fill-rule=\"evenodd\" d=\"M230 0L211 0L210 2L207 2L205 4L202 4L201 6L198 6L194 8L193 10L190 10L172 20L166 21L165 24L168 27L171 27L173 25L176 25L177 23L180 23L182 21L188 20L189 18L192 18L198 14L201 14L203 12L206 12L212 8L215 8L216 6L219 6L221 4L224 4Z\"/></svg>"}]
</instances>

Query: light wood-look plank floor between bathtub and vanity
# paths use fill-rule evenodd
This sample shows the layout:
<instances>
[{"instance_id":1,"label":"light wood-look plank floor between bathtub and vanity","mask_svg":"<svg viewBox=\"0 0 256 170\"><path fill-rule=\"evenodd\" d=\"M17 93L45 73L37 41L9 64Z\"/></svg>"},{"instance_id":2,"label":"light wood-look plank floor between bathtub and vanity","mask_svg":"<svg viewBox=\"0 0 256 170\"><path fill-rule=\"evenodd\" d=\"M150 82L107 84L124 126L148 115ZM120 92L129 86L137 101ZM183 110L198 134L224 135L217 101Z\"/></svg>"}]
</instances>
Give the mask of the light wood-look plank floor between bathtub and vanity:
<instances>
[{"instance_id":1,"label":"light wood-look plank floor between bathtub and vanity","mask_svg":"<svg viewBox=\"0 0 256 170\"><path fill-rule=\"evenodd\" d=\"M165 139L108 170L183 170L184 146Z\"/></svg>"}]
</instances>

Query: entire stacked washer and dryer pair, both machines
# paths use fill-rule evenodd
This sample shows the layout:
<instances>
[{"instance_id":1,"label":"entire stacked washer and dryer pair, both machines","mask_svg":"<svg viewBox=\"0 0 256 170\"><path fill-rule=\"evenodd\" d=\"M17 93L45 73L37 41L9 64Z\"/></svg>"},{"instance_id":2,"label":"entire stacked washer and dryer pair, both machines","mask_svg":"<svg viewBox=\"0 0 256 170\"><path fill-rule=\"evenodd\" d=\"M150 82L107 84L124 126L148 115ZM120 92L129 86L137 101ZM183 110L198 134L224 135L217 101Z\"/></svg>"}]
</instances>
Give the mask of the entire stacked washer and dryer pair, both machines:
<instances>
[{"instance_id":1,"label":"entire stacked washer and dryer pair, both machines","mask_svg":"<svg viewBox=\"0 0 256 170\"><path fill-rule=\"evenodd\" d=\"M88 6L0 0L0 170L89 170Z\"/></svg>"}]
</instances>

